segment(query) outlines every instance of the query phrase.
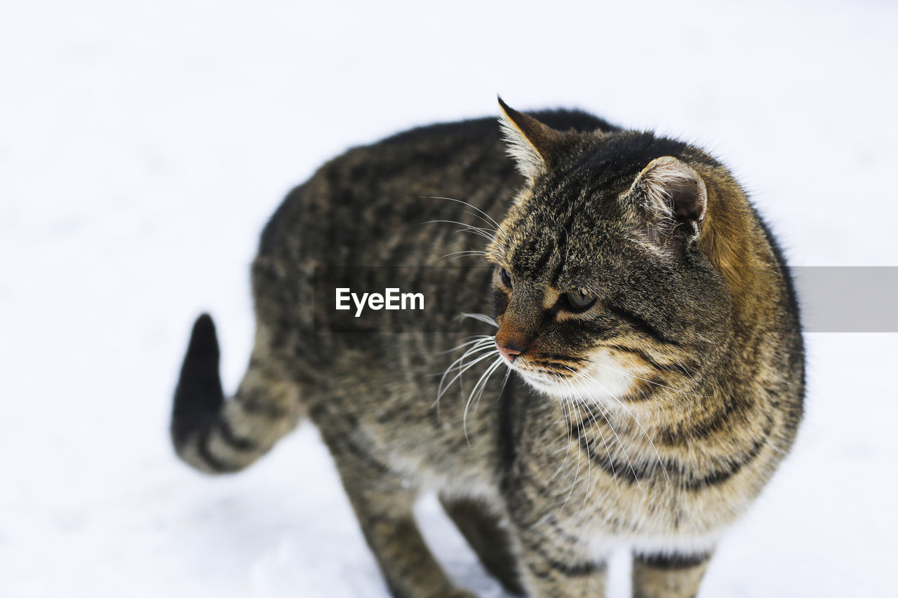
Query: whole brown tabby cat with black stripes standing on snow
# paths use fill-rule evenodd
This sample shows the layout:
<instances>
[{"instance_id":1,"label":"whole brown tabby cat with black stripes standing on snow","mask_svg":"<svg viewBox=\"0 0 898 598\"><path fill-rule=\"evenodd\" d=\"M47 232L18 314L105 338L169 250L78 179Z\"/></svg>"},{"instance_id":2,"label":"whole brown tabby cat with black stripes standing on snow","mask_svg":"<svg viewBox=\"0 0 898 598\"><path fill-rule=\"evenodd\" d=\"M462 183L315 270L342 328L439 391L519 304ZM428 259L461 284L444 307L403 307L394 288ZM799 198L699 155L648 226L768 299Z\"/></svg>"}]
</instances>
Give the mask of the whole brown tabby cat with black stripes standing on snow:
<instances>
[{"instance_id":1,"label":"whole brown tabby cat with black stripes standing on snow","mask_svg":"<svg viewBox=\"0 0 898 598\"><path fill-rule=\"evenodd\" d=\"M242 470L311 418L394 596L473 595L418 532L421 490L510 593L601 596L627 546L635 596L693 596L802 418L788 268L699 148L499 104L499 126L416 128L289 193L252 264L249 368L225 400L201 315L175 449ZM336 309L384 285L423 311Z\"/></svg>"}]
</instances>

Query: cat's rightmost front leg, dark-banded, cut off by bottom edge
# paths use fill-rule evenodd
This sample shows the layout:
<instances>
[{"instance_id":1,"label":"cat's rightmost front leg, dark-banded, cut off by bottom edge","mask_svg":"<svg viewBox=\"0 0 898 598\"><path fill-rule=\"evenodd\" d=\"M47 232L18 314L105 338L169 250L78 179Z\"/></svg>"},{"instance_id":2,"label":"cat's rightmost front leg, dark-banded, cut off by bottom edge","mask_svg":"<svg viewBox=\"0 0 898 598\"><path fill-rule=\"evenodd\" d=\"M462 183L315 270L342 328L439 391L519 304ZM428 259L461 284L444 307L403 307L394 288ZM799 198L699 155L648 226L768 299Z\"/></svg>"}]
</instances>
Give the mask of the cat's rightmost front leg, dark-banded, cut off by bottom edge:
<instances>
[{"instance_id":1,"label":"cat's rightmost front leg, dark-banded, cut off by bottom edge","mask_svg":"<svg viewBox=\"0 0 898 598\"><path fill-rule=\"evenodd\" d=\"M699 592L710 553L637 555L633 559L633 598L692 598Z\"/></svg>"}]
</instances>

